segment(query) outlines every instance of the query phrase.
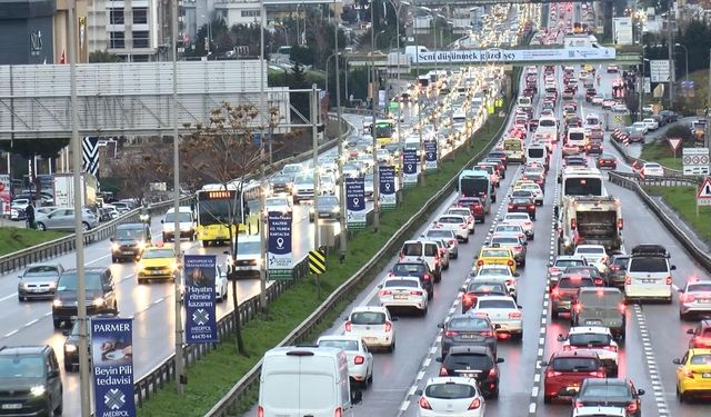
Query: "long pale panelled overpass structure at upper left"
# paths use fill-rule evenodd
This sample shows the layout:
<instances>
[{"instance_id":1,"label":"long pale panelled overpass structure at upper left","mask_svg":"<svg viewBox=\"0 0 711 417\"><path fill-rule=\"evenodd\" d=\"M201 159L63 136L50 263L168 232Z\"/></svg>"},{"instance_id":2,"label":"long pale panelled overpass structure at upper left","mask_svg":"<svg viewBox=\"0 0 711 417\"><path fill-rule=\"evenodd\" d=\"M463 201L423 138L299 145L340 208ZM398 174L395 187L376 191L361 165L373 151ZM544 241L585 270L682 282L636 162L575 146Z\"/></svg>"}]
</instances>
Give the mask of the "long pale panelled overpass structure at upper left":
<instances>
[{"instance_id":1,"label":"long pale panelled overpass structure at upper left","mask_svg":"<svg viewBox=\"0 0 711 417\"><path fill-rule=\"evenodd\" d=\"M222 101L259 110L260 70L259 60L178 62L180 132L209 121ZM172 62L77 64L80 136L171 135L172 80ZM264 106L291 125L289 89L266 92ZM69 66L0 66L0 140L69 138L70 109Z\"/></svg>"}]
</instances>

